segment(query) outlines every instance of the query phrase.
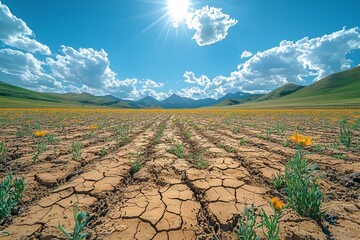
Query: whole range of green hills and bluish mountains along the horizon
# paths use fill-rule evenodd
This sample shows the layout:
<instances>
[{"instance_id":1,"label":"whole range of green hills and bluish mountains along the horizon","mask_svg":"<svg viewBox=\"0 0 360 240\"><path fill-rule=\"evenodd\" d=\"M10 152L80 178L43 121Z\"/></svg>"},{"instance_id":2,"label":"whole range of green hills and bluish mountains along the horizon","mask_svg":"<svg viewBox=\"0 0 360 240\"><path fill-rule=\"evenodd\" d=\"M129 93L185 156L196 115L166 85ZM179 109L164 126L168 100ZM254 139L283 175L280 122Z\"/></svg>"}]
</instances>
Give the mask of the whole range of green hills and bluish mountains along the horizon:
<instances>
[{"instance_id":1,"label":"whole range of green hills and bluish mountains along the horizon","mask_svg":"<svg viewBox=\"0 0 360 240\"><path fill-rule=\"evenodd\" d=\"M109 108L201 108L201 107L286 107L312 105L360 106L360 67L330 75L310 86L286 84L268 94L228 93L220 99L194 100L173 94L158 101L138 101L89 93L40 93L0 81L0 107L109 107Z\"/></svg>"}]
</instances>

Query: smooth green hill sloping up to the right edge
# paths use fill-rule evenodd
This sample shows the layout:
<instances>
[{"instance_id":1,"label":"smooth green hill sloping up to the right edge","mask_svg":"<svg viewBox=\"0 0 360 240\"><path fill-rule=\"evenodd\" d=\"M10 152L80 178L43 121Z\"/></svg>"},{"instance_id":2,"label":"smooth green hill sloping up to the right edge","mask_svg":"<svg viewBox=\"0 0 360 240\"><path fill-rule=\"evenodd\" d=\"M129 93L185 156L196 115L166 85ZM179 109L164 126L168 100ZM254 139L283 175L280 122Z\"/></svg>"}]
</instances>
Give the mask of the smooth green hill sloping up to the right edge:
<instances>
[{"instance_id":1,"label":"smooth green hill sloping up to the right edge","mask_svg":"<svg viewBox=\"0 0 360 240\"><path fill-rule=\"evenodd\" d=\"M235 105L238 108L359 107L360 66L332 74L284 97Z\"/></svg>"}]
</instances>

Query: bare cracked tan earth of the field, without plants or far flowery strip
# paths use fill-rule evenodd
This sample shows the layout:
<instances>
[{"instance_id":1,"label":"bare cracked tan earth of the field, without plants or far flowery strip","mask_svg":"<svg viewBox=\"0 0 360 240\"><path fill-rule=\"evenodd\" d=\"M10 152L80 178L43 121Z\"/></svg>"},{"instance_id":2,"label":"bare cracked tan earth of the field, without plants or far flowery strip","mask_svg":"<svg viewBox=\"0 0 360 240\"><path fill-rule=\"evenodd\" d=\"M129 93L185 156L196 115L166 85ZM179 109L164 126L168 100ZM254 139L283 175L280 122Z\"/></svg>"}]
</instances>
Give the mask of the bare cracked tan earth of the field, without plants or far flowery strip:
<instances>
[{"instance_id":1,"label":"bare cracked tan earth of the field, without plants or far flowery strip","mask_svg":"<svg viewBox=\"0 0 360 240\"><path fill-rule=\"evenodd\" d=\"M133 117L128 122L134 122ZM236 225L245 205L254 203L271 214L269 200L283 197L271 178L284 170L295 150L266 141L249 127L239 133L231 128L213 128L196 114L155 114L137 119L125 144L106 140L114 135L111 128L97 140L83 141L80 161L71 160L59 146L56 154L44 153L37 163L28 164L20 146L24 153L8 168L25 177L23 206L1 228L11 235L0 238L64 239L58 225L73 228L78 196L80 210L93 216L86 229L90 239L237 239ZM244 146L238 144L240 139L246 140ZM71 140L64 139L64 146L66 141ZM178 145L183 156L169 151ZM99 156L103 146L108 154ZM199 152L207 162L205 169L199 169L193 157ZM319 164L317 174L325 176L320 185L328 196L326 211L334 216L335 224L325 223L331 238L315 221L286 210L280 222L285 239L360 239L359 183L341 183L360 172L359 153L349 156L355 160L309 155ZM130 163L139 159L142 168L134 173Z\"/></svg>"}]
</instances>

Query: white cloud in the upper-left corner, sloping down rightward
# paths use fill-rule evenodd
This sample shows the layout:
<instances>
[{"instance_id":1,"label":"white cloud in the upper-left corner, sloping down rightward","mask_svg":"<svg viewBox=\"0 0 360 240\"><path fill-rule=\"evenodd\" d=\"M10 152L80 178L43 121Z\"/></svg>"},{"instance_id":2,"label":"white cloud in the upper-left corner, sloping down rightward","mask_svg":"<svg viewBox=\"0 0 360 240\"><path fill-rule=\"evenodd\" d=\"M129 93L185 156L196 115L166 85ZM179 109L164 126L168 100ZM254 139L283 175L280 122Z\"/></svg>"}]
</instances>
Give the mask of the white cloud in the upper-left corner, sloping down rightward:
<instances>
[{"instance_id":1,"label":"white cloud in the upper-left corner, sloping down rightward","mask_svg":"<svg viewBox=\"0 0 360 240\"><path fill-rule=\"evenodd\" d=\"M10 9L0 1L0 41L4 44L28 52L50 55L50 48L35 39L34 33L26 23L14 16Z\"/></svg>"}]
</instances>

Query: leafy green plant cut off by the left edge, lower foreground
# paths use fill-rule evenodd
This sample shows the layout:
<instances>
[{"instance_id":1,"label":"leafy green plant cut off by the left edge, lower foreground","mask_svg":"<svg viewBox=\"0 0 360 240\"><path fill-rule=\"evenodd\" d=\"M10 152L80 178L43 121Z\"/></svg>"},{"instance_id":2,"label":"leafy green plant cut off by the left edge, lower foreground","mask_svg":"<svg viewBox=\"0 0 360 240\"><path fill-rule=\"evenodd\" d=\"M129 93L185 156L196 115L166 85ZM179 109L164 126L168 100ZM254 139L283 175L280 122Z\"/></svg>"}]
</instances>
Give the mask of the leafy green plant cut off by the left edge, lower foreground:
<instances>
[{"instance_id":1,"label":"leafy green plant cut off by the left edge, lower foreground","mask_svg":"<svg viewBox=\"0 0 360 240\"><path fill-rule=\"evenodd\" d=\"M11 173L0 182L0 220L11 215L11 211L21 200L24 189L24 178L13 179Z\"/></svg>"}]
</instances>

